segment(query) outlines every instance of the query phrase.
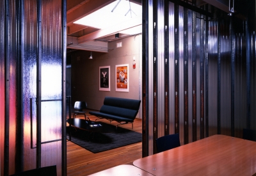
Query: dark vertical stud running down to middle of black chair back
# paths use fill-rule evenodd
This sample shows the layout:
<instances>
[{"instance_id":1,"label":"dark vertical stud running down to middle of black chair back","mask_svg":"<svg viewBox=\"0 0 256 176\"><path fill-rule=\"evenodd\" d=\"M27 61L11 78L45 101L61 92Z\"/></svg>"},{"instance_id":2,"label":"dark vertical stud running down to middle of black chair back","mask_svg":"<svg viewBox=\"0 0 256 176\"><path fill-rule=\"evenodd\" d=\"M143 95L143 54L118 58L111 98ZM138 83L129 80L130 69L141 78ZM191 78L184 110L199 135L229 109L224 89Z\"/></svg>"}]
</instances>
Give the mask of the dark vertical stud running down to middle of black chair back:
<instances>
[{"instance_id":1,"label":"dark vertical stud running down to middle of black chair back","mask_svg":"<svg viewBox=\"0 0 256 176\"><path fill-rule=\"evenodd\" d=\"M164 135L168 135L169 127L169 2L164 1Z\"/></svg>"}]
</instances>

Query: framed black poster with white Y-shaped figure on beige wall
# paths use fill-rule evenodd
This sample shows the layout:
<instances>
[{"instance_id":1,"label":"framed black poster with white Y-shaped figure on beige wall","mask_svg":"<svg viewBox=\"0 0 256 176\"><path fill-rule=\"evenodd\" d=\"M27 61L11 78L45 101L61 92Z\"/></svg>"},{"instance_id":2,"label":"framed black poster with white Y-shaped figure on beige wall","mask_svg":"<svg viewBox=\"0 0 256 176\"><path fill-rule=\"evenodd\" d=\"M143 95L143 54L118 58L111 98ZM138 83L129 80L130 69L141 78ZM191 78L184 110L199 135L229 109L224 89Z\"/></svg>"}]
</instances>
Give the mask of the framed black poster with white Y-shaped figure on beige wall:
<instances>
[{"instance_id":1,"label":"framed black poster with white Y-shaped figure on beige wall","mask_svg":"<svg viewBox=\"0 0 256 176\"><path fill-rule=\"evenodd\" d=\"M110 91L110 66L99 67L99 90Z\"/></svg>"}]
</instances>

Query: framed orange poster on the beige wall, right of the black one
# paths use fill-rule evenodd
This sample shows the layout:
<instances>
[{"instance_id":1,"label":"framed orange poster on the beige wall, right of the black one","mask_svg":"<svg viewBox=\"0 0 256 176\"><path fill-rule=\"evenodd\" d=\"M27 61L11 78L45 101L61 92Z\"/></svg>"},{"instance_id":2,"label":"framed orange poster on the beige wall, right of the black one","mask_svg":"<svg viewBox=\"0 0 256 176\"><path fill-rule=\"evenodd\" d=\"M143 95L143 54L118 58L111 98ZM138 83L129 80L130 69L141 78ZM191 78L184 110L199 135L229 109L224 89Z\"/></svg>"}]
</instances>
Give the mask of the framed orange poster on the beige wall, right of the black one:
<instances>
[{"instance_id":1,"label":"framed orange poster on the beige wall, right of the black one","mask_svg":"<svg viewBox=\"0 0 256 176\"><path fill-rule=\"evenodd\" d=\"M116 65L116 91L129 92L129 65Z\"/></svg>"}]
</instances>

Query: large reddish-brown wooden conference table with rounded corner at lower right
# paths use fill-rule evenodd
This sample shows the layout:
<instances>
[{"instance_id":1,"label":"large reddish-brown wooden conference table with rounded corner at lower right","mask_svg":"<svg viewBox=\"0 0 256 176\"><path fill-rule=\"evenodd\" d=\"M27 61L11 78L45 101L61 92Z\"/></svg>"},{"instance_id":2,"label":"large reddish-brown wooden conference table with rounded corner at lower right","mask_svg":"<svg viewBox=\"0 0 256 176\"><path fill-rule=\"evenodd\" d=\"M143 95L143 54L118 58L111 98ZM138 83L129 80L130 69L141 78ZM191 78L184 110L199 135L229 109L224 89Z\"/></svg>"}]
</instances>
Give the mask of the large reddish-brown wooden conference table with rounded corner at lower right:
<instances>
[{"instance_id":1,"label":"large reddish-brown wooden conference table with rounded corner at lower right","mask_svg":"<svg viewBox=\"0 0 256 176\"><path fill-rule=\"evenodd\" d=\"M153 175L253 175L256 142L214 135L159 154L143 157L134 166Z\"/></svg>"}]
</instances>

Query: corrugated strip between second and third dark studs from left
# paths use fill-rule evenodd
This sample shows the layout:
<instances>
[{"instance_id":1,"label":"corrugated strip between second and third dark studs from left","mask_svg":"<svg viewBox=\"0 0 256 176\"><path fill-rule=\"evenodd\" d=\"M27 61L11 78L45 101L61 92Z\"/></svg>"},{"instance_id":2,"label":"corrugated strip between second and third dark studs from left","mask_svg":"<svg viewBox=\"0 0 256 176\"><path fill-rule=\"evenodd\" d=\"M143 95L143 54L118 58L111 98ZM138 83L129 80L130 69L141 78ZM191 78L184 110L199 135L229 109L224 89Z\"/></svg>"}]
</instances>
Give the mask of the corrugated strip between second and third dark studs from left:
<instances>
[{"instance_id":1,"label":"corrugated strip between second and third dark studs from left","mask_svg":"<svg viewBox=\"0 0 256 176\"><path fill-rule=\"evenodd\" d=\"M22 52L22 99L23 106L23 129L24 129L24 170L31 170L36 168L36 149L31 149L33 140L32 134L36 137L36 106L35 99L30 103L31 98L36 98L36 52L37 52L37 37L36 37L36 1L24 1L24 26L22 26L22 33L24 33L24 45ZM28 10L29 9L29 10ZM33 115L33 116L31 116ZM34 119L33 121L31 121ZM34 128L31 128L31 123ZM36 141L33 143L35 147Z\"/></svg>"}]
</instances>

